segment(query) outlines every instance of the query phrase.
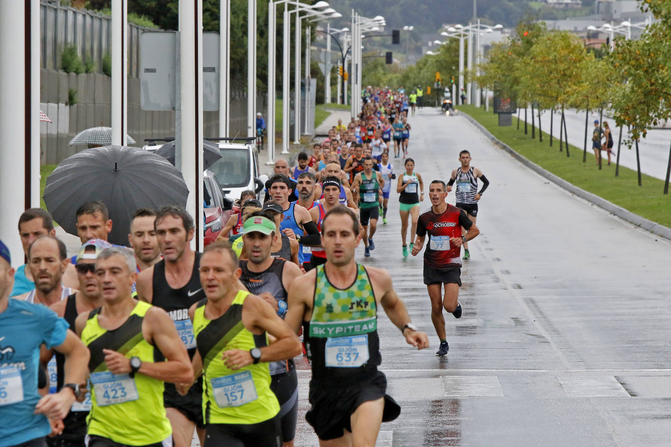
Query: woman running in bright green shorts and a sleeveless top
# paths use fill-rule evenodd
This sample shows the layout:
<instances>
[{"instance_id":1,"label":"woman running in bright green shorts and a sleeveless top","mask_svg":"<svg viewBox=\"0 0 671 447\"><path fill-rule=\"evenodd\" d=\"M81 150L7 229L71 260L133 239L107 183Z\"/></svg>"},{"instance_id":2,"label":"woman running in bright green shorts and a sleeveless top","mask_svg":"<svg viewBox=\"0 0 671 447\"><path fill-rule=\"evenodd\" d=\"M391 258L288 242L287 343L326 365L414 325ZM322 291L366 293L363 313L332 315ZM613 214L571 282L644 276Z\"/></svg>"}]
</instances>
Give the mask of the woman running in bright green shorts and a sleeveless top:
<instances>
[{"instance_id":1,"label":"woman running in bright green shorts and a sleeveless top","mask_svg":"<svg viewBox=\"0 0 671 447\"><path fill-rule=\"evenodd\" d=\"M417 194L419 186L420 194ZM396 192L399 195L399 214L401 214L401 240L403 241L403 257L408 257L408 251L412 251L415 241L415 229L417 228L417 218L419 218L419 202L424 200L424 182L419 174L415 174L415 160L405 159L405 172L399 176ZM410 227L410 250L405 244L405 237L408 232L408 216L411 217Z\"/></svg>"}]
</instances>

